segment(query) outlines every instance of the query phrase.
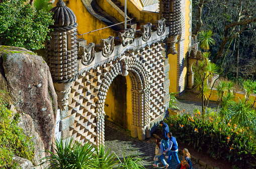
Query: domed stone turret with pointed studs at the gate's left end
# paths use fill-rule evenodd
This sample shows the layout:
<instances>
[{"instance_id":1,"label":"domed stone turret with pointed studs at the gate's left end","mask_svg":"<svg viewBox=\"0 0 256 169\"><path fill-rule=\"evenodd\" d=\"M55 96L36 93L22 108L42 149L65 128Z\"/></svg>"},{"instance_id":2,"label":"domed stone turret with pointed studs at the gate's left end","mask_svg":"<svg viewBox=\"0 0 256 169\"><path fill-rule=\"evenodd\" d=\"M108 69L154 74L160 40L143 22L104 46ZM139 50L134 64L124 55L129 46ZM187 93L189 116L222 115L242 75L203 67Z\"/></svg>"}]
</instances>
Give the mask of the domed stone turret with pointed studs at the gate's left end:
<instances>
[{"instance_id":1,"label":"domed stone turret with pointed studs at the gate's left end","mask_svg":"<svg viewBox=\"0 0 256 169\"><path fill-rule=\"evenodd\" d=\"M53 12L53 31L46 42L46 62L58 95L60 109L60 130L62 139L69 136L69 125L73 123L73 116L68 116L68 94L72 82L78 77L77 71L77 40L76 17L74 12L59 0ZM65 121L65 122L64 122Z\"/></svg>"}]
</instances>

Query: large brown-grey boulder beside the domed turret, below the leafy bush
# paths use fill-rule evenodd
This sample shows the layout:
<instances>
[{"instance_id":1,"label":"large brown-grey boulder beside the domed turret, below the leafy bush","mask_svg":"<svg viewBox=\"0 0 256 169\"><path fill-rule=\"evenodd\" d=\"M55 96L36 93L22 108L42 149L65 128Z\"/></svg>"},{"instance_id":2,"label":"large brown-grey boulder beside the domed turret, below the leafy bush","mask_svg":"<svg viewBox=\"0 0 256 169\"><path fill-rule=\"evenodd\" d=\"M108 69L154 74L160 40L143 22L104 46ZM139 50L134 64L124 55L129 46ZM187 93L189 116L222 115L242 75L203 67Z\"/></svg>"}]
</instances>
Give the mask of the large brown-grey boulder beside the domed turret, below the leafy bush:
<instances>
[{"instance_id":1,"label":"large brown-grey boulder beside the domed turret, below the leafy bush","mask_svg":"<svg viewBox=\"0 0 256 169\"><path fill-rule=\"evenodd\" d=\"M50 150L54 138L56 114L53 107L57 110L57 96L48 65L41 56L20 47L0 46L0 56L1 89L9 92L10 102L17 111L31 117L31 119L27 115L21 117L27 121L24 126L26 130L33 132L33 121L34 133L38 132L44 148ZM35 152L38 155L39 149L43 147L42 142L38 139L36 145L38 151Z\"/></svg>"}]
</instances>

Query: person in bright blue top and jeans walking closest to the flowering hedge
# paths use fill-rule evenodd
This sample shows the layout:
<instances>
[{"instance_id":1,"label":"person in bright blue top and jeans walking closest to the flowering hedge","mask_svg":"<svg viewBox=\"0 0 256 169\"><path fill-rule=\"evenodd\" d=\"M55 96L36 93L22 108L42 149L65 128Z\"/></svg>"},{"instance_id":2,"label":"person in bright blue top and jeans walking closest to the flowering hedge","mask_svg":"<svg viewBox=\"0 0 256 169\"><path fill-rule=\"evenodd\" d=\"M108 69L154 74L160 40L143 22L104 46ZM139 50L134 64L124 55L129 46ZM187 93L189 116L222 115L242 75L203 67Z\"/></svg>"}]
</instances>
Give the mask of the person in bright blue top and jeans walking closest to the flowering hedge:
<instances>
[{"instance_id":1,"label":"person in bright blue top and jeans walking closest to the flowering hedge","mask_svg":"<svg viewBox=\"0 0 256 169\"><path fill-rule=\"evenodd\" d=\"M169 147L165 149L164 151L167 152L169 150L169 153L167 156L165 156L167 159L167 163L170 162L170 159L172 159L172 155L174 156L174 159L176 160L177 164L181 163L180 159L178 157L178 143L176 138L173 136L172 132L168 132L169 137Z\"/></svg>"}]
</instances>

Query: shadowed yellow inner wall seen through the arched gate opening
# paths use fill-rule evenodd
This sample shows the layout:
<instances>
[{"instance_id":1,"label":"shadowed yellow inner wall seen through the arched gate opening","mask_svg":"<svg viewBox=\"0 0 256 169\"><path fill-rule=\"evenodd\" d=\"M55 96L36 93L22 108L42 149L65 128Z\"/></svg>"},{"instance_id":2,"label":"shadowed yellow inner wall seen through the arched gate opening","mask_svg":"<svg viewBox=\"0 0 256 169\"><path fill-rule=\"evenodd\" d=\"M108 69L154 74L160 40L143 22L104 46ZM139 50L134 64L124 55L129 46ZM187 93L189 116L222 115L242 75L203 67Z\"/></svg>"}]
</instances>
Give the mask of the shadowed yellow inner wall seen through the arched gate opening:
<instances>
[{"instance_id":1,"label":"shadowed yellow inner wall seen through the arched gate opening","mask_svg":"<svg viewBox=\"0 0 256 169\"><path fill-rule=\"evenodd\" d=\"M123 88L126 88L125 92L122 90ZM108 115L107 119L128 130L131 130L132 123L131 98L131 81L129 76L119 75L110 84L104 106L104 111Z\"/></svg>"}]
</instances>

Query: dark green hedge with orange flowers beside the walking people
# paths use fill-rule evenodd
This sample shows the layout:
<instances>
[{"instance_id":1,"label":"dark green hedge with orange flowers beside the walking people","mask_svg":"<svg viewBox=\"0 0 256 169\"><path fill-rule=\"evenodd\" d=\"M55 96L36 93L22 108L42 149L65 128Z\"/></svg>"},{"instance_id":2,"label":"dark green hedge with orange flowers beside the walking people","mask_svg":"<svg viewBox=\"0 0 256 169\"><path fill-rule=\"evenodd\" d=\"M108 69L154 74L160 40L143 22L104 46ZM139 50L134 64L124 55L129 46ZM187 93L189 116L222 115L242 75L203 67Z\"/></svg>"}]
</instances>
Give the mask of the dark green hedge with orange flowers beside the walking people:
<instances>
[{"instance_id":1,"label":"dark green hedge with orange flowers beside the walking people","mask_svg":"<svg viewBox=\"0 0 256 169\"><path fill-rule=\"evenodd\" d=\"M206 149L210 156L227 159L240 168L256 166L256 140L248 128L240 128L231 120L221 121L215 115L207 114L203 119L200 111L170 116L165 122L178 140L195 149Z\"/></svg>"}]
</instances>

